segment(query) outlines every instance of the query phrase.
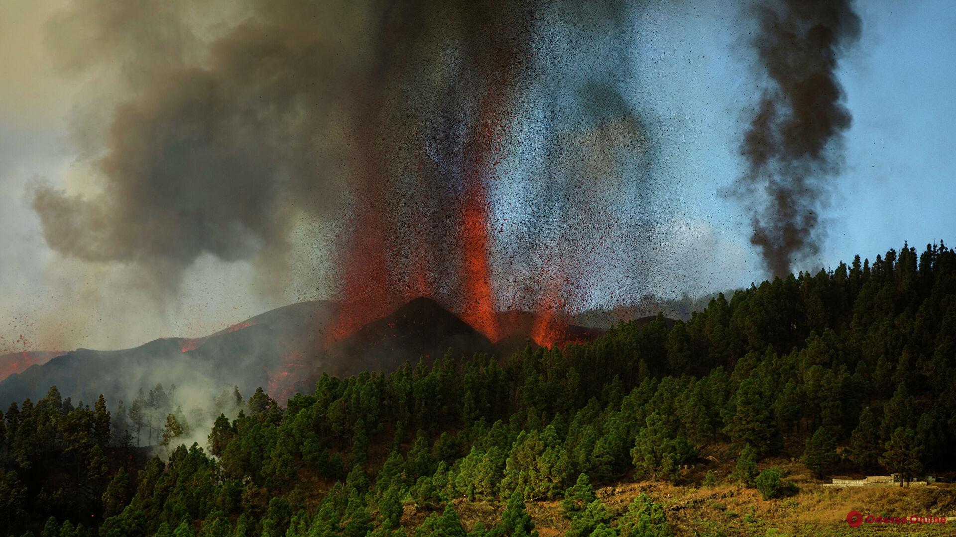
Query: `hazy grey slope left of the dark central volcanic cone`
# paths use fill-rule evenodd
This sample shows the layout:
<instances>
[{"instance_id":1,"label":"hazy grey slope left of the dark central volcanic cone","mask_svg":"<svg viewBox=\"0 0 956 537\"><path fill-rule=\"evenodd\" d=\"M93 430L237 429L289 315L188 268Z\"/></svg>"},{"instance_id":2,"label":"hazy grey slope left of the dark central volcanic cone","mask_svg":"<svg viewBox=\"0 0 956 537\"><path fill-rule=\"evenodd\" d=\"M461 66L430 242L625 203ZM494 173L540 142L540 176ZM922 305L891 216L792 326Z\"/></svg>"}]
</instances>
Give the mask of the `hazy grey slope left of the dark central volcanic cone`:
<instances>
[{"instance_id":1,"label":"hazy grey slope left of the dark central volcanic cone","mask_svg":"<svg viewBox=\"0 0 956 537\"><path fill-rule=\"evenodd\" d=\"M43 397L51 385L63 397L89 402L103 394L132 400L139 389L173 384L199 391L237 385L246 393L271 386L278 394L294 379L283 375L291 356L312 354L337 311L316 300L256 315L205 337L170 337L133 349L78 349L0 381L0 404Z\"/></svg>"}]
</instances>

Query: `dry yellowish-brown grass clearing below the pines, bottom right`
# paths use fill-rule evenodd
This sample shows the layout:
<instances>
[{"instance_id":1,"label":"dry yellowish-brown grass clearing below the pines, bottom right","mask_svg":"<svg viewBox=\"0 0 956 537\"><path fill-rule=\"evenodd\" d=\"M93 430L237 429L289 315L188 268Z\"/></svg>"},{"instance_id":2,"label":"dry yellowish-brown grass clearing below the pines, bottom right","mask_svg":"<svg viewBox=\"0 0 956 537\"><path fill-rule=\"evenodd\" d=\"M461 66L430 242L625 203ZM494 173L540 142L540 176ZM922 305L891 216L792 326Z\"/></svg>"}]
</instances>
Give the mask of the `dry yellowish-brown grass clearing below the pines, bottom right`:
<instances>
[{"instance_id":1,"label":"dry yellowish-brown grass clearing below the pines, bottom right","mask_svg":"<svg viewBox=\"0 0 956 537\"><path fill-rule=\"evenodd\" d=\"M798 462L776 463L787 470L787 479L798 487L798 492L789 498L765 501L756 490L731 484L700 488L653 482L618 483L597 490L597 496L617 517L635 497L645 493L663 506L678 536L956 535L956 520L924 525L864 523L858 527L846 522L851 510L874 516L956 519L956 484L825 488ZM698 478L702 477L690 472L684 481L700 483ZM470 528L479 521L493 524L504 505L459 500L455 501L455 508ZM530 502L528 510L541 537L563 535L570 526L570 521L561 517L560 502ZM426 512L416 512L407 505L402 523L413 528L425 516Z\"/></svg>"}]
</instances>

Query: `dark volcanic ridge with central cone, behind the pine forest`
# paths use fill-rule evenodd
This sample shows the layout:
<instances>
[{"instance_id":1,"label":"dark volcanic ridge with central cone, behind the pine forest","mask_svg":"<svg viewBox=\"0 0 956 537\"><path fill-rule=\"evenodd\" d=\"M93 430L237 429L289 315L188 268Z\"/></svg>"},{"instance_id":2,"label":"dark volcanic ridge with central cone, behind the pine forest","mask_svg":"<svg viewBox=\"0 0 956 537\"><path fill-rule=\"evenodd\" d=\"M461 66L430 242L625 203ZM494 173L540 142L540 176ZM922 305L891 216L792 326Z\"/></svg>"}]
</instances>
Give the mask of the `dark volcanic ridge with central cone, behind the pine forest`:
<instances>
[{"instance_id":1,"label":"dark volcanic ridge with central cone, behind the pine forest","mask_svg":"<svg viewBox=\"0 0 956 537\"><path fill-rule=\"evenodd\" d=\"M89 402L99 393L130 400L140 388L149 390L158 383L205 391L237 385L243 394L261 386L285 401L295 390L311 391L311 382L323 373L388 373L406 361L431 364L449 351L456 357L510 356L528 345L563 347L604 332L544 319L532 311L505 311L497 318L500 337L491 341L438 302L422 297L335 338L341 311L336 302L315 300L266 311L203 337L161 338L120 351L28 354L47 361L26 364L29 367L11 371L0 381L0 405L42 397L52 385L74 400ZM22 364L22 353L16 356Z\"/></svg>"}]
</instances>

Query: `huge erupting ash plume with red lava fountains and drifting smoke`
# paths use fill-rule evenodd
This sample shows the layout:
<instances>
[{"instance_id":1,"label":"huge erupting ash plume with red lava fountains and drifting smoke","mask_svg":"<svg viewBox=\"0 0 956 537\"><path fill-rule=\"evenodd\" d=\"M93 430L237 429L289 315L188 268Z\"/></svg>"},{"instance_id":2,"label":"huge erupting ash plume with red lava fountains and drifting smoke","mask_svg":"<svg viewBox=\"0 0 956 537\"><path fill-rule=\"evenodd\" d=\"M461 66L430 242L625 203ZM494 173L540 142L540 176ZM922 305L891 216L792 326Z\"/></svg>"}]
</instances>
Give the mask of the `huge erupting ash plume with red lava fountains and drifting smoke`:
<instances>
[{"instance_id":1,"label":"huge erupting ash plume with red lava fountains and drifting smoke","mask_svg":"<svg viewBox=\"0 0 956 537\"><path fill-rule=\"evenodd\" d=\"M508 285L515 273L554 272L520 282L531 297L510 297L535 307L553 301L543 288L614 266L589 252L625 235L607 229L623 219L594 214L625 206L631 176L614 170L647 140L619 90L630 2L219 8L97 0L54 20L64 71L114 82L76 120L80 164L98 182L33 198L56 251L138 267L159 296L175 296L204 255L253 262L281 287L289 250L320 251L293 244L294 227L321 222L332 238L315 243L335 253L315 264L334 267L342 305L334 337L425 295L496 339L497 288L520 287ZM608 57L613 70L600 68ZM548 131L536 146L522 135L535 125ZM515 162L535 171L518 179ZM520 182L534 184L536 204L496 238L494 192ZM561 236L539 232L540 220L563 223ZM509 274L492 252L515 237L533 247Z\"/></svg>"}]
</instances>

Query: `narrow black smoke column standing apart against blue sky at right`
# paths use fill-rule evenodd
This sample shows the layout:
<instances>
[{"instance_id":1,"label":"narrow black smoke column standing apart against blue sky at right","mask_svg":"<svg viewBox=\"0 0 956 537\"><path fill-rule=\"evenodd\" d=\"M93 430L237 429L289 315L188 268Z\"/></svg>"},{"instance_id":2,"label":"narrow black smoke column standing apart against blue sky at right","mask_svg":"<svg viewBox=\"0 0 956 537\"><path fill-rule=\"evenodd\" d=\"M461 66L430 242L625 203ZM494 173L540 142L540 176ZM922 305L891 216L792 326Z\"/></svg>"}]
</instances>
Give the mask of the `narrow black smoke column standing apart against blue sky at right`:
<instances>
[{"instance_id":1,"label":"narrow black smoke column standing apart against blue sky at right","mask_svg":"<svg viewBox=\"0 0 956 537\"><path fill-rule=\"evenodd\" d=\"M836 58L857 40L859 17L846 0L787 0L757 8L758 65L770 78L741 152L749 169L740 194L753 204L750 243L773 276L818 250L819 205L839 171L836 156L850 112Z\"/></svg>"}]
</instances>

